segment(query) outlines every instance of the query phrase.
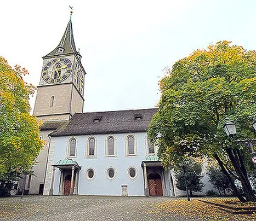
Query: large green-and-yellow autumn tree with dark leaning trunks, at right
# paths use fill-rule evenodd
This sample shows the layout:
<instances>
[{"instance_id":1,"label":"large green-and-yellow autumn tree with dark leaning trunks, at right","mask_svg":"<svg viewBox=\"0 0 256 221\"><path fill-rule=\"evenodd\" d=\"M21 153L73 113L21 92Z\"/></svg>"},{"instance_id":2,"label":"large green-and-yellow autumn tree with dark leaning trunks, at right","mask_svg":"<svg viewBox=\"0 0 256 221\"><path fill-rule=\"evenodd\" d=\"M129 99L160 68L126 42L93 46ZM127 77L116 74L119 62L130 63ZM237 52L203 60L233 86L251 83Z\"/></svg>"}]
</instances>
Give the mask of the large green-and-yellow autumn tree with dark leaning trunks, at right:
<instances>
[{"instance_id":1,"label":"large green-and-yellow autumn tree with dark leaning trunks, at right","mask_svg":"<svg viewBox=\"0 0 256 221\"><path fill-rule=\"evenodd\" d=\"M234 194L243 202L255 202L244 160L251 157L250 150L227 138L223 124L229 117L236 122L237 139L255 138L251 122L256 110L256 52L230 43L196 50L166 69L148 133L164 167L173 167L184 155L215 158ZM234 178L241 181L246 199Z\"/></svg>"}]
</instances>

